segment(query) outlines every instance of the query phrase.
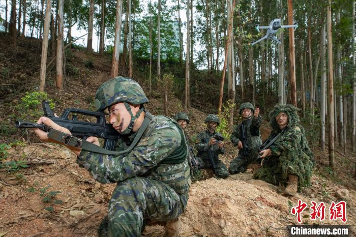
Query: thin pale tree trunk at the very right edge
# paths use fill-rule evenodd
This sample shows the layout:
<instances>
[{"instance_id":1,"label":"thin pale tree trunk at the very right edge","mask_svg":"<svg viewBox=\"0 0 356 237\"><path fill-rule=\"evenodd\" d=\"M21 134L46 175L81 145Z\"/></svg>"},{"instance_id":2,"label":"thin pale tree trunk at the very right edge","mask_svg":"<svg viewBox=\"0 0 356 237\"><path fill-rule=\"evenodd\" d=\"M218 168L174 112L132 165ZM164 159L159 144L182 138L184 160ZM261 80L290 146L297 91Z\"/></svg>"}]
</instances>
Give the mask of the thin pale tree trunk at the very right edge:
<instances>
[{"instance_id":1,"label":"thin pale tree trunk at the very right edge","mask_svg":"<svg viewBox=\"0 0 356 237\"><path fill-rule=\"evenodd\" d=\"M356 55L355 55L355 1L352 4L352 62L353 68L356 68ZM353 96L352 96L352 152L356 150L356 71L353 71ZM355 169L356 172L356 169ZM356 176L356 174L355 174Z\"/></svg>"}]
</instances>

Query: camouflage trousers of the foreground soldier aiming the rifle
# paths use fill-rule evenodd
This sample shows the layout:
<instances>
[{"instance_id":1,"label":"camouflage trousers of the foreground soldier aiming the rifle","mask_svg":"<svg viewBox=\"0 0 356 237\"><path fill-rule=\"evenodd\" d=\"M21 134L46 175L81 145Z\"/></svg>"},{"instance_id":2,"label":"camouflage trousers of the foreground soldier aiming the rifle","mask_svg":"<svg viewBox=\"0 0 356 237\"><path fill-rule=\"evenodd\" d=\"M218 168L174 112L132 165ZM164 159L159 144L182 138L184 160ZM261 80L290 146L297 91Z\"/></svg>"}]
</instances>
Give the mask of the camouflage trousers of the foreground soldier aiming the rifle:
<instances>
[{"instance_id":1,"label":"camouflage trousers of the foreground soldier aiming the rifle","mask_svg":"<svg viewBox=\"0 0 356 237\"><path fill-rule=\"evenodd\" d=\"M145 219L168 221L182 215L188 194L178 195L168 185L145 177L117 184L108 217L98 229L99 236L140 236Z\"/></svg>"}]
</instances>

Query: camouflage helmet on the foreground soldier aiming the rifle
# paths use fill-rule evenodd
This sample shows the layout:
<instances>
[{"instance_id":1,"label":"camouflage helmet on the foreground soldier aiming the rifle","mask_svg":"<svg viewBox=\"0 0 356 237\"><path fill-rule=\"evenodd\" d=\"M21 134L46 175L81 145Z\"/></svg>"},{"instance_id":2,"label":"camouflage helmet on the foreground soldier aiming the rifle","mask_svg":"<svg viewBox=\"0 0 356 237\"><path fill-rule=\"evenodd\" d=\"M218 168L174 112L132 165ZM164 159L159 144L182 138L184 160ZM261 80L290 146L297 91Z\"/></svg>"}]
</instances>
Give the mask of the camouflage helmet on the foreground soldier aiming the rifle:
<instances>
[{"instance_id":1,"label":"camouflage helmet on the foreground soldier aiming the rifle","mask_svg":"<svg viewBox=\"0 0 356 237\"><path fill-rule=\"evenodd\" d=\"M95 106L98 111L118 102L144 104L149 102L141 86L131 78L115 77L104 82L95 94Z\"/></svg>"}]
</instances>

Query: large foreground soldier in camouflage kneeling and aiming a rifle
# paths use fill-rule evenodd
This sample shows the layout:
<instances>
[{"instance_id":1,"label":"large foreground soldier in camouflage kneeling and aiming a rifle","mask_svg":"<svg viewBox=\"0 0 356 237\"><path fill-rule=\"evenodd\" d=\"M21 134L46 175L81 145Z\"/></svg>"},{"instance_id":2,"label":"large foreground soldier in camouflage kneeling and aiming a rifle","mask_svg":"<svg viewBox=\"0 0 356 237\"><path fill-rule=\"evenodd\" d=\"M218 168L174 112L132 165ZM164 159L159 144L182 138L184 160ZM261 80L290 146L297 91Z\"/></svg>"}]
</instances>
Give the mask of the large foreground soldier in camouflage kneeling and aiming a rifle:
<instances>
[{"instance_id":1,"label":"large foreground soldier in camouflage kneeling and aiming a rifle","mask_svg":"<svg viewBox=\"0 0 356 237\"><path fill-rule=\"evenodd\" d=\"M78 156L77 163L94 179L117 183L108 216L98 229L99 236L140 236L145 220L167 221L166 235L178 236L178 218L186 209L191 185L183 130L174 120L147 112L143 104L148 99L140 85L130 78L106 81L95 98L98 111L107 113L109 123L122 135L116 151L128 149L135 136L142 134L133 149L121 155L69 146ZM38 123L42 122L70 133L48 118L41 117ZM36 131L42 140L48 140L42 132ZM99 145L96 137L87 141Z\"/></svg>"}]
</instances>

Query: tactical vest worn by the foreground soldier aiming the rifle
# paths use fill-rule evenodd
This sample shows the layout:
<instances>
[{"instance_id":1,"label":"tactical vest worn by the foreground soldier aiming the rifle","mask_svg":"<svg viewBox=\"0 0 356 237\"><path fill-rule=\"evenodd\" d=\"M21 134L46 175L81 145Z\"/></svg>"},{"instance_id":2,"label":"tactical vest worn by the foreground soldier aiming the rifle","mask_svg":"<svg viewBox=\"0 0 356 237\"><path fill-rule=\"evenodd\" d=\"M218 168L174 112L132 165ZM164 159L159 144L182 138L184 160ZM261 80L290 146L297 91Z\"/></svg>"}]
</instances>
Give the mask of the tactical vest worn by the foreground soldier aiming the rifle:
<instances>
[{"instance_id":1,"label":"tactical vest worn by the foreground soldier aiming the rifle","mask_svg":"<svg viewBox=\"0 0 356 237\"><path fill-rule=\"evenodd\" d=\"M188 142L186 141L182 128L174 120L167 117L179 129L181 145L177 147L166 159L153 168L150 175L154 180L169 185L178 194L188 193L192 183L190 168L188 164Z\"/></svg>"}]
</instances>

